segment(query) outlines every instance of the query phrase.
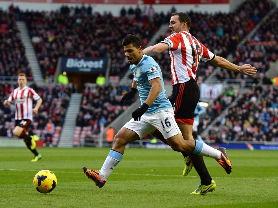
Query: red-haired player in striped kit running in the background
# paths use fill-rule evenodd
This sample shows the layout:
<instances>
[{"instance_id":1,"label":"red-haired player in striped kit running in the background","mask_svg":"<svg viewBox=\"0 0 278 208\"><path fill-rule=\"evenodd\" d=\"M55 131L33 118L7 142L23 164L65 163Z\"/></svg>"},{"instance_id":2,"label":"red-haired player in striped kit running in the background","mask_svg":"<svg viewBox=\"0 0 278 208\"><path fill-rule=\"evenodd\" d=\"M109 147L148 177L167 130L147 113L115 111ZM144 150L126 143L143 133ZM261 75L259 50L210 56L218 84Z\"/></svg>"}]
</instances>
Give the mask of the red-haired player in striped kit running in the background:
<instances>
[{"instance_id":1,"label":"red-haired player in striped kit running in the background","mask_svg":"<svg viewBox=\"0 0 278 208\"><path fill-rule=\"evenodd\" d=\"M16 127L13 130L13 135L22 138L26 146L32 153L34 153L34 159L32 162L37 162L41 159L41 154L36 150L36 142L34 138L28 134L28 127L31 125L33 114L37 114L39 107L43 100L41 97L30 87L27 87L27 76L26 74L19 73L17 83L19 87L14 89L10 94L8 100L4 101L4 105L11 105L14 101L16 112L15 122ZM36 106L33 107L33 99L36 101Z\"/></svg>"}]
</instances>

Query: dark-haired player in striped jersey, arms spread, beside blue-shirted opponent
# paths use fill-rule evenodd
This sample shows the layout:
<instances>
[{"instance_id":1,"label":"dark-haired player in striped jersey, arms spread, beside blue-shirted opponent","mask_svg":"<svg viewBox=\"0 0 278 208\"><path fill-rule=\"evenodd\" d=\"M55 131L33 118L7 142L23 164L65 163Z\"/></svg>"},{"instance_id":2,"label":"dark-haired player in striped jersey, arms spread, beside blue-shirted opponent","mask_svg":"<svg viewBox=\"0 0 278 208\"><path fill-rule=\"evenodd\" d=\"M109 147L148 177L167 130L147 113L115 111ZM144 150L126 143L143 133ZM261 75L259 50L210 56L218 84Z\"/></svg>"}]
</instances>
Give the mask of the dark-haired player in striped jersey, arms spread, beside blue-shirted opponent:
<instances>
[{"instance_id":1,"label":"dark-haired player in striped jersey, arms spread, beside blue-shirted opponent","mask_svg":"<svg viewBox=\"0 0 278 208\"><path fill-rule=\"evenodd\" d=\"M200 90L197 85L197 68L200 60L249 76L257 72L256 68L250 64L238 66L220 56L215 56L206 46L190 34L190 25L191 18L188 14L184 12L173 13L169 25L172 34L165 38L164 41L143 50L143 53L148 56L162 53L165 50L169 51L173 85L173 94L169 96L169 100L174 108L175 121L185 140L193 139L194 111L200 99ZM166 143L158 130L152 134ZM204 195L209 191L215 190L216 184L209 175L202 156L182 154L185 166L183 175L187 175L192 165L194 165L201 178L200 185L191 194Z\"/></svg>"}]
</instances>

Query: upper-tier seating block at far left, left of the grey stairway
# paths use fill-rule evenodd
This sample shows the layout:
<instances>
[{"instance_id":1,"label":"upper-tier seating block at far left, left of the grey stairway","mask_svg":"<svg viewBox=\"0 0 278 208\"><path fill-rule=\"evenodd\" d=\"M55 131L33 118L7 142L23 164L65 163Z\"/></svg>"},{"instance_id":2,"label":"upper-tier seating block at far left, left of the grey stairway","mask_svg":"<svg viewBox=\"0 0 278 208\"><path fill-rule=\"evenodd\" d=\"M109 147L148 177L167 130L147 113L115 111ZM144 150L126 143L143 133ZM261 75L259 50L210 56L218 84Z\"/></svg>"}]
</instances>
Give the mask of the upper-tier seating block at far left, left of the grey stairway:
<instances>
[{"instance_id":1,"label":"upper-tier seating block at far left, left of the grey stairway","mask_svg":"<svg viewBox=\"0 0 278 208\"><path fill-rule=\"evenodd\" d=\"M17 80L17 74L25 73L32 81L31 68L19 36L14 13L0 8L0 80Z\"/></svg>"}]
</instances>

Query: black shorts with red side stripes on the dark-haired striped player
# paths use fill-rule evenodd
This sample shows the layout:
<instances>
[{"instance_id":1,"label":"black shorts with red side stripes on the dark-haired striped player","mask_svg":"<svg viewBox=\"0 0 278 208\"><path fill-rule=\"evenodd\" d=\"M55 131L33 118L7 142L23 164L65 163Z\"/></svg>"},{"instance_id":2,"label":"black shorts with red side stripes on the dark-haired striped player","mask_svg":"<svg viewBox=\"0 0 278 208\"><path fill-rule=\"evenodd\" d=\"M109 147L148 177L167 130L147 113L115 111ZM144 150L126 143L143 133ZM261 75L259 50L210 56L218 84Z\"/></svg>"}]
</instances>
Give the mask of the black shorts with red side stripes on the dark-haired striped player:
<instances>
[{"instance_id":1,"label":"black shorts with red side stripes on the dark-haired striped player","mask_svg":"<svg viewBox=\"0 0 278 208\"><path fill-rule=\"evenodd\" d=\"M200 99L200 89L194 79L173 85L169 100L175 112L175 121L193 125L194 112Z\"/></svg>"}]
</instances>

